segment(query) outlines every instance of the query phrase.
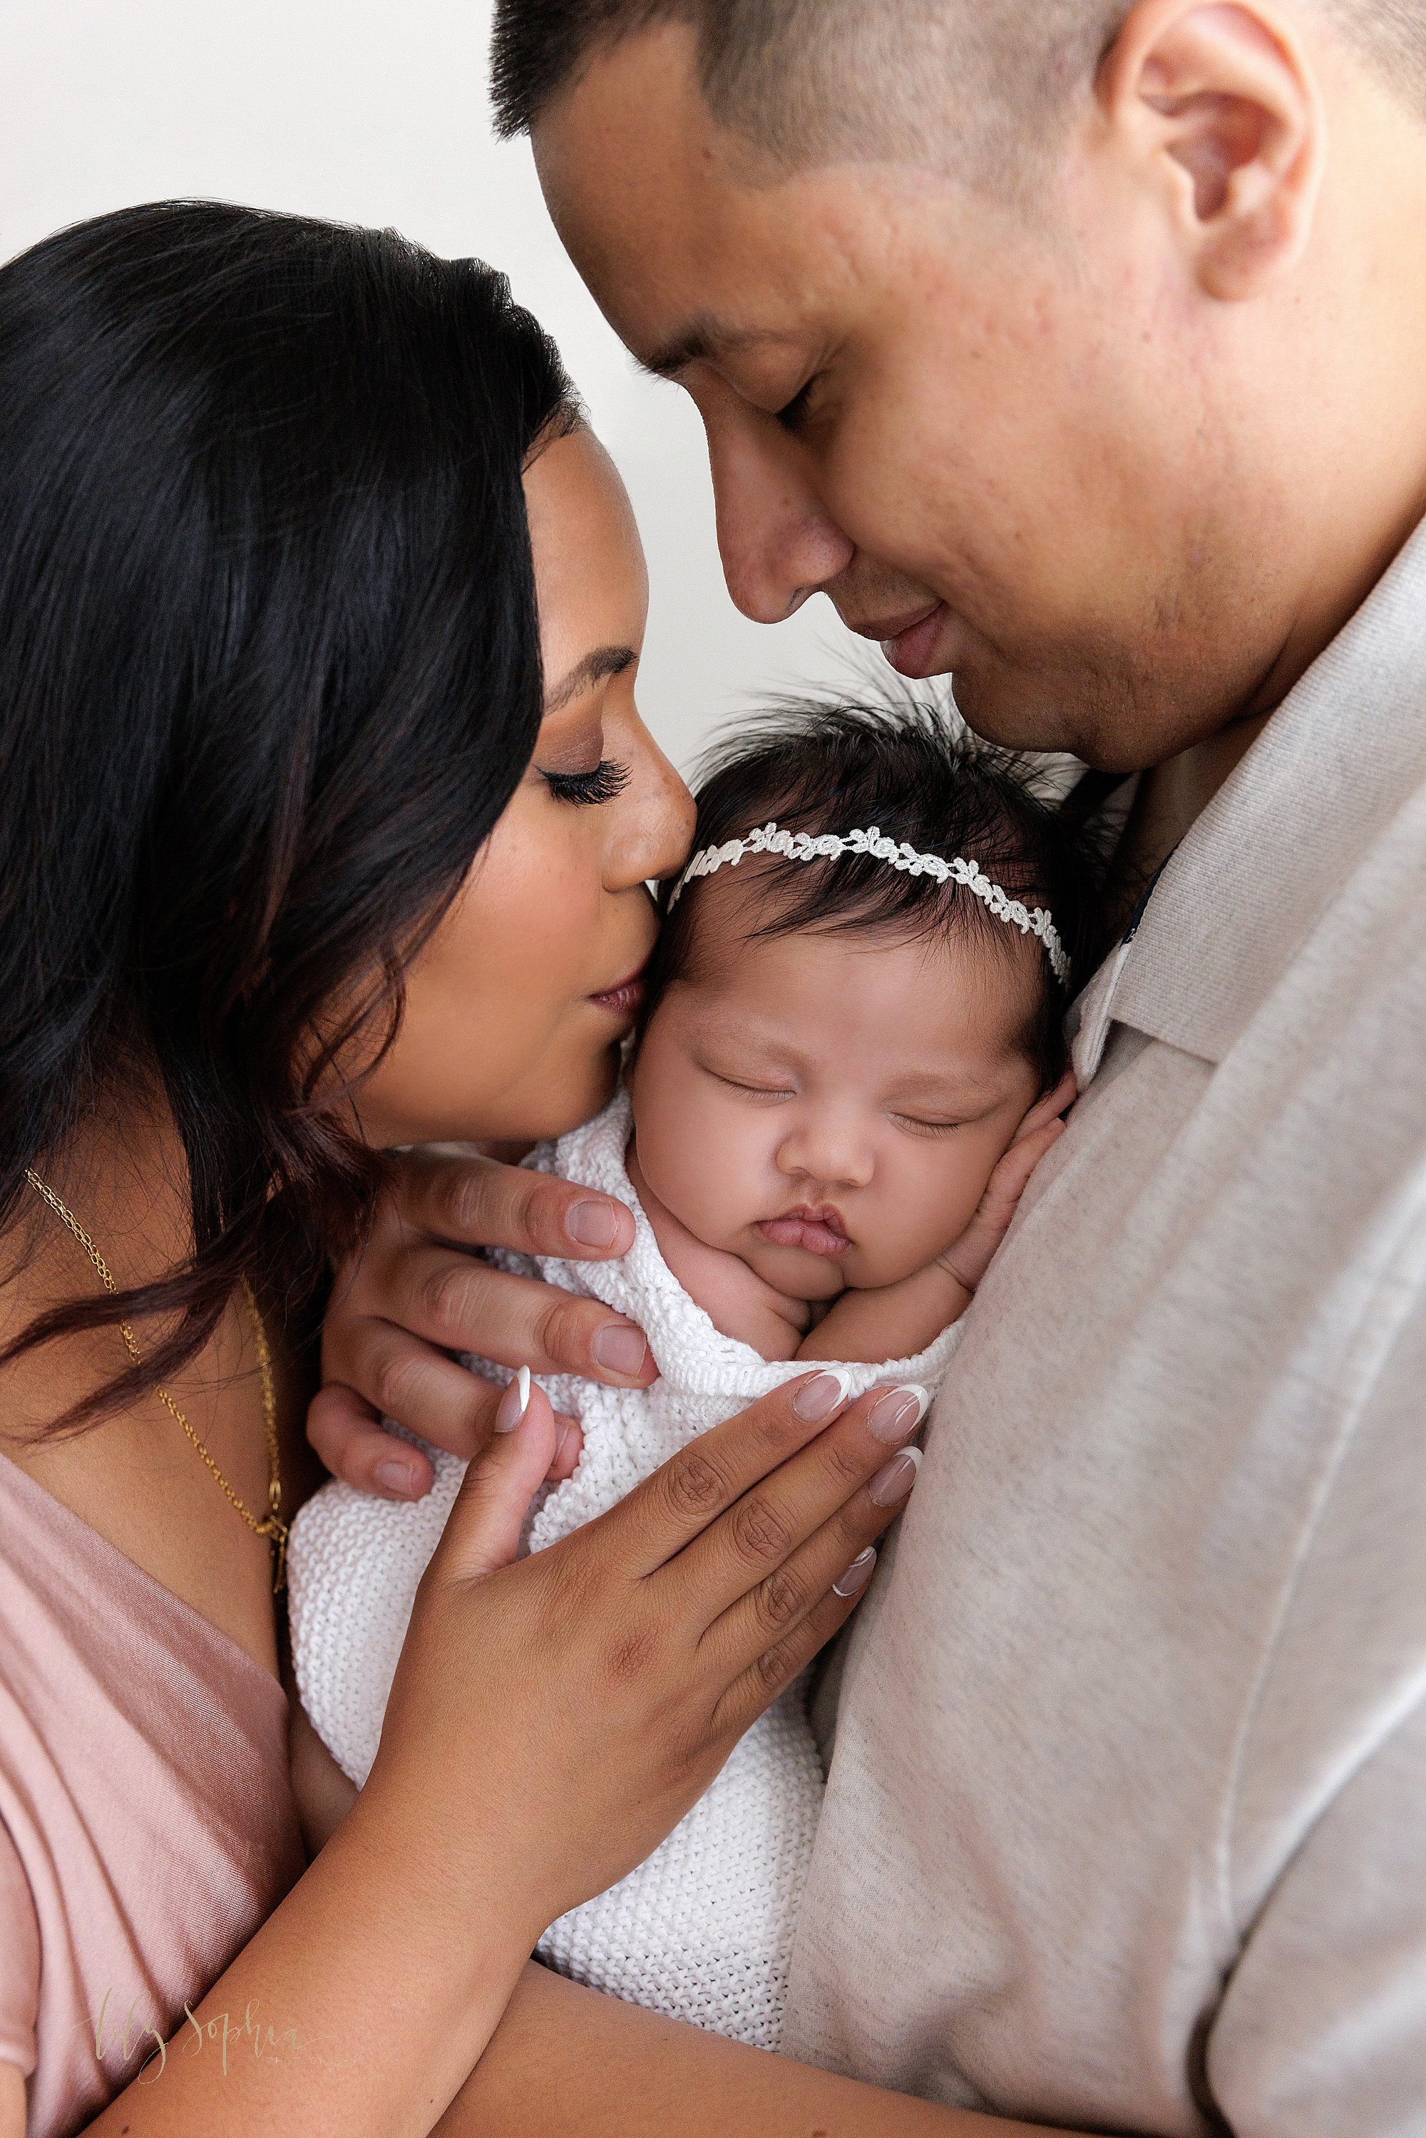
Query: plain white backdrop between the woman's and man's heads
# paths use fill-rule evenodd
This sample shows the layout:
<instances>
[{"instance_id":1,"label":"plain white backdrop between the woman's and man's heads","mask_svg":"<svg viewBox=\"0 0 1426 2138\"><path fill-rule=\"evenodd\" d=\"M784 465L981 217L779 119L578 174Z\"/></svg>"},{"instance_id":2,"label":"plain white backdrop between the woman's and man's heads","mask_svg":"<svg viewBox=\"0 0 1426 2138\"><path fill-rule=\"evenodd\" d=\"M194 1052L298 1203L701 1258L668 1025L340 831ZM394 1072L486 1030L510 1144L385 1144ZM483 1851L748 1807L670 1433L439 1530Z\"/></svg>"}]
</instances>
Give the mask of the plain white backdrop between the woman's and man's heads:
<instances>
[{"instance_id":1,"label":"plain white backdrop between the woman's and man's heads","mask_svg":"<svg viewBox=\"0 0 1426 2138\"><path fill-rule=\"evenodd\" d=\"M0 257L64 222L207 195L391 224L477 252L549 327L644 528L641 708L680 763L757 693L827 678L823 599L776 629L718 571L703 434L641 378L549 229L524 143L496 145L487 0L9 0L0 9Z\"/></svg>"}]
</instances>

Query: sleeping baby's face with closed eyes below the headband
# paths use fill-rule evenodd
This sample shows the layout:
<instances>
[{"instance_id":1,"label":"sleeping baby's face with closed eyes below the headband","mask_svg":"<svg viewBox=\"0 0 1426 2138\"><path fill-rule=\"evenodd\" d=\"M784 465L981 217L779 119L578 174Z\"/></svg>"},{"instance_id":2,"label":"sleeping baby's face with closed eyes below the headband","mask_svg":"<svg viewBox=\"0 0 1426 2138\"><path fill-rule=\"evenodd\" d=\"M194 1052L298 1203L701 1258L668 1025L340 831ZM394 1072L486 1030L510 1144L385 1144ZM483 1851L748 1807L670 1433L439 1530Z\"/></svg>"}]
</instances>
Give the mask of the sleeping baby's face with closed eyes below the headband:
<instances>
[{"instance_id":1,"label":"sleeping baby's face with closed eyes below the headband","mask_svg":"<svg viewBox=\"0 0 1426 2138\"><path fill-rule=\"evenodd\" d=\"M1039 945L718 943L699 915L699 949L633 1071L652 1193L791 1298L924 1268L960 1238L1039 1097L1024 1052Z\"/></svg>"}]
</instances>

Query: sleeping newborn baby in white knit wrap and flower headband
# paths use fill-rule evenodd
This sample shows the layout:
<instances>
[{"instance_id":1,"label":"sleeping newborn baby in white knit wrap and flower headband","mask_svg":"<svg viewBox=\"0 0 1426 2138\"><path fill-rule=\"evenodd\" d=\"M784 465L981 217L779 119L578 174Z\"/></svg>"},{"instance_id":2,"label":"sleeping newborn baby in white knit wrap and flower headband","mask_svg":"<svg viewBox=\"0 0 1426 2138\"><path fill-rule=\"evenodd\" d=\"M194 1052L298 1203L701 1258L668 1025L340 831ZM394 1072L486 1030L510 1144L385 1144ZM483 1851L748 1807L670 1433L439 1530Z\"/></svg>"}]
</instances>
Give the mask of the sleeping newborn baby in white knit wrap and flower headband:
<instances>
[{"instance_id":1,"label":"sleeping newborn baby in white knit wrap and flower headband","mask_svg":"<svg viewBox=\"0 0 1426 2138\"><path fill-rule=\"evenodd\" d=\"M1071 1097L1063 1011L1090 872L1009 759L915 708L789 712L723 750L695 845L626 1084L526 1159L633 1210L622 1261L539 1272L635 1319L661 1370L648 1390L547 1381L584 1452L537 1501L530 1550L808 1360L838 1362L849 1394L917 1388L900 1445ZM357 1783L462 1477L432 1458L425 1501L329 1484L293 1529L297 1687ZM892 1456L883 1505L917 1462ZM821 1787L793 1687L663 1847L556 1922L541 1956L774 2048Z\"/></svg>"}]
</instances>

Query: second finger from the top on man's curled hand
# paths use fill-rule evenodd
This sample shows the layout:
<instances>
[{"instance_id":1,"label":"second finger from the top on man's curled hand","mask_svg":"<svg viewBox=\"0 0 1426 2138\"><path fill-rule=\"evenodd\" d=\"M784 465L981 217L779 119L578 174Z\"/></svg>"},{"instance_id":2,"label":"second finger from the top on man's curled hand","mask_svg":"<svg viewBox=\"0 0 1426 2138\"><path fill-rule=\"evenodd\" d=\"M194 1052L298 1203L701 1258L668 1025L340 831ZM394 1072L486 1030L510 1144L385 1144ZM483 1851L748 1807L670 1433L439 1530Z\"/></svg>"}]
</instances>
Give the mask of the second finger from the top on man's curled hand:
<instances>
[{"instance_id":1,"label":"second finger from the top on man's curled hand","mask_svg":"<svg viewBox=\"0 0 1426 2138\"><path fill-rule=\"evenodd\" d=\"M496 1270L475 1255L434 1242L408 1249L391 1270L383 1319L400 1323L428 1345L477 1351L498 1366L577 1373L590 1381L609 1381L614 1388L648 1388L658 1379L644 1332L601 1300L560 1291L558 1285L543 1285L532 1276L511 1276L509 1270ZM344 1323L342 1353L351 1353L355 1341L357 1330ZM372 1403L383 1403L393 1417L400 1415L368 1385L359 1360L338 1358L334 1345L325 1364ZM402 1417L402 1424L408 1422L425 1439L436 1439L425 1424L417 1426L415 1420Z\"/></svg>"}]
</instances>

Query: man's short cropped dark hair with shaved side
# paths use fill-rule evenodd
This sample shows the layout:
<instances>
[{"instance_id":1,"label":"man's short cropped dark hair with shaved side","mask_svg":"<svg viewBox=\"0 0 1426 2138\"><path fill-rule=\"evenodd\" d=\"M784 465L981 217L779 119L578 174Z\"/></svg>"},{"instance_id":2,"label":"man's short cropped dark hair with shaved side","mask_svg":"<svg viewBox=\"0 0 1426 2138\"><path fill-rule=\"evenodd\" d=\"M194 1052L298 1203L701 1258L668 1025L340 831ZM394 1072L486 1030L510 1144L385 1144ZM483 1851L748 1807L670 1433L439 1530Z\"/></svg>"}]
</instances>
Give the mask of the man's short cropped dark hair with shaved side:
<instances>
[{"instance_id":1,"label":"man's short cropped dark hair with shaved side","mask_svg":"<svg viewBox=\"0 0 1426 2138\"><path fill-rule=\"evenodd\" d=\"M1304 4L1426 107L1426 0ZM599 51L684 24L712 118L787 169L909 160L1018 190L1063 139L1131 11L1133 0L498 0L496 124L528 133Z\"/></svg>"}]
</instances>

